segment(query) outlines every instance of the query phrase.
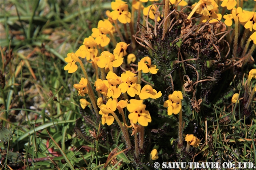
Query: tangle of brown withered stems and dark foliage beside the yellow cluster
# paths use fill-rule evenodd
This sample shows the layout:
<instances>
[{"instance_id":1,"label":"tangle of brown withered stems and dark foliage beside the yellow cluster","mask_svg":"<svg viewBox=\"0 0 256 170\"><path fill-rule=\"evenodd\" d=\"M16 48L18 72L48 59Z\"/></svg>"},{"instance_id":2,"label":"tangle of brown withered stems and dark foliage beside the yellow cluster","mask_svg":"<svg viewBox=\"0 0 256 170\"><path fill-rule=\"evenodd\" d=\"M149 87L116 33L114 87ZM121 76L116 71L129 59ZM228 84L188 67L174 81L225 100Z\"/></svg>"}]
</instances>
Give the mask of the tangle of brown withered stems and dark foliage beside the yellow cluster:
<instances>
[{"instance_id":1,"label":"tangle of brown withered stems and dark foliage beside the yellow cluster","mask_svg":"<svg viewBox=\"0 0 256 170\"><path fill-rule=\"evenodd\" d=\"M226 31L222 21L198 24L196 17L188 20L189 13L185 12L188 8L170 10L166 34L163 34L166 19L153 25L148 20L146 26L138 24L136 41L148 49L145 52L159 69L152 75L156 90L170 94L183 86L193 109L200 112L203 103L214 103L230 90L225 87L242 66L234 65L241 59L232 56L226 40L232 30ZM163 81L164 76L167 78Z\"/></svg>"}]
</instances>

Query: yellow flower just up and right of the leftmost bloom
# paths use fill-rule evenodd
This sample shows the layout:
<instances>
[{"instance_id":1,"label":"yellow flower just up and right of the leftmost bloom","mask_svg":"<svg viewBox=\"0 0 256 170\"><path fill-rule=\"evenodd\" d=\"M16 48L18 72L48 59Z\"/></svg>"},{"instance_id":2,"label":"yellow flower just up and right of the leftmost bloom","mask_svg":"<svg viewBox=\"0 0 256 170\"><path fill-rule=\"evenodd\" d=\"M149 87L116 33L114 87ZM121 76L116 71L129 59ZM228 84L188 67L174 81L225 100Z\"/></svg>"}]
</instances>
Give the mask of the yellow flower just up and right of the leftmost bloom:
<instances>
[{"instance_id":1,"label":"yellow flower just up and right of the leftmost bloom","mask_svg":"<svg viewBox=\"0 0 256 170\"><path fill-rule=\"evenodd\" d=\"M92 36L84 38L83 42L86 50L86 60L89 61L92 58L98 55L97 42Z\"/></svg>"}]
</instances>

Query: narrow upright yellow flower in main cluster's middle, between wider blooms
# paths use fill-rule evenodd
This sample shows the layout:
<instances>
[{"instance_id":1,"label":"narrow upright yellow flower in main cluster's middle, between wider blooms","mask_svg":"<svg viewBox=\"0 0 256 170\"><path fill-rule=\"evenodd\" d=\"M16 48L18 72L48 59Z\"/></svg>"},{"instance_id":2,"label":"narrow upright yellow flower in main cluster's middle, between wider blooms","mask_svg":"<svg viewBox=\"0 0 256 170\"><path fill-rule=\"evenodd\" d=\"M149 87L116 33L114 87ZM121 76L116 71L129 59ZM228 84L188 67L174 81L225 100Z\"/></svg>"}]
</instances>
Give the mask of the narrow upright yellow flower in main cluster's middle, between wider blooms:
<instances>
[{"instance_id":1,"label":"narrow upright yellow flower in main cluster's middle, between wider blooms","mask_svg":"<svg viewBox=\"0 0 256 170\"><path fill-rule=\"evenodd\" d=\"M108 72L108 75L106 78L108 80L108 97L112 97L112 98L120 97L121 90L120 88L117 88L116 85L121 84L121 78L118 77L112 71Z\"/></svg>"}]
</instances>

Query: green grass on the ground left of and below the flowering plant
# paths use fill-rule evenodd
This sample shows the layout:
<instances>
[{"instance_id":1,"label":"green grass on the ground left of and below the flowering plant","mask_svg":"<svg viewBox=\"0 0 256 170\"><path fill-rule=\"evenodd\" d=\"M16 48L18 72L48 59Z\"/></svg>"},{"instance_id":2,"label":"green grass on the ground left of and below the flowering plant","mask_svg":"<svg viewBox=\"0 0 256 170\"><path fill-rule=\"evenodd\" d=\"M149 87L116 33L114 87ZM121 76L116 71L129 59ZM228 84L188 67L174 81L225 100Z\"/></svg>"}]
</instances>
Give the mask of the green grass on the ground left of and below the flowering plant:
<instances>
[{"instance_id":1,"label":"green grass on the ground left of and below the flowering plant","mask_svg":"<svg viewBox=\"0 0 256 170\"><path fill-rule=\"evenodd\" d=\"M104 11L111 10L110 2L13 0L1 1L0 4L4 11L0 14L3 28L0 45L3 55L13 49L6 67L2 67L2 56L0 60L5 76L5 86L0 87L0 159L4 160L0 168L96 170L105 166L110 152L118 148L117 153L120 154L116 156L117 161L102 169L152 169L147 162L153 164L148 158L157 140L148 144L151 148L144 152L149 154L141 154L138 160L147 161L134 164L135 158L131 152L121 153L126 147L117 124L111 126L111 130L106 125L102 126L101 120L95 121L89 108L80 108L81 97L77 96L73 84L80 81L82 70L79 68L69 74L63 69L67 53L77 50L83 39L91 35L91 29L97 27L100 19L105 18ZM41 51L42 43L45 52ZM87 63L85 66L88 66L86 69L92 76L90 65ZM255 63L252 67L256 68ZM152 82L151 78L143 76L144 80ZM255 101L253 103L255 105ZM166 118L166 109L157 102L153 104L150 106L158 105L160 108L159 116L154 115L154 118ZM250 119L246 119L241 115L238 104L233 105L233 111L229 112L226 112L226 106L223 105L203 103L203 107L210 113L188 111L183 116L184 128L196 120L197 133L202 136L202 144L193 150L195 162L219 160L222 163L253 162L256 165L256 112L252 111ZM191 108L191 105L187 105L187 108ZM84 115L88 116L85 120ZM230 121L225 122L225 116ZM171 135L177 131L176 122L178 117L172 115L167 120L157 122L161 124L159 126L153 122L151 128L157 127L159 130L166 128L166 124L170 126L170 132L163 134L166 135L164 140L170 144ZM152 129L148 130L147 135ZM108 132L108 135L96 140L88 137L88 130L95 130L97 137L100 132ZM156 136L146 138L148 141L151 137L161 138ZM133 142L133 137L131 139ZM160 155L161 152L159 150ZM173 162L171 154L163 157L163 160ZM189 161L193 161L193 158Z\"/></svg>"}]
</instances>

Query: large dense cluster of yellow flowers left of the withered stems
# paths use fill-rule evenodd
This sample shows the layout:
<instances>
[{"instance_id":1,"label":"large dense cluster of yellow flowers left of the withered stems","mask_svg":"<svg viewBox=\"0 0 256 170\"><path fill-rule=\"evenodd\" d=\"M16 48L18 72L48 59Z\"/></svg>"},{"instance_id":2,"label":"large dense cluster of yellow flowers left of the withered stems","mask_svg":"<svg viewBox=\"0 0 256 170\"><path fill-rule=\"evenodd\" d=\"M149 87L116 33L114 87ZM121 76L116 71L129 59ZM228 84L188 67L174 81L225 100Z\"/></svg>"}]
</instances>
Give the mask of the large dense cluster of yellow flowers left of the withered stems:
<instances>
[{"instance_id":1,"label":"large dense cluster of yellow flowers left of the withered stems","mask_svg":"<svg viewBox=\"0 0 256 170\"><path fill-rule=\"evenodd\" d=\"M144 0L143 2L146 1ZM133 124L139 123L142 126L148 126L148 123L151 122L151 116L149 111L146 110L143 100L149 98L157 99L162 94L148 84L141 88L140 78L142 72L156 74L158 69L156 65L151 63L150 57L144 57L138 62L138 71L136 72L139 75L134 73L135 71L129 70L124 71L120 76L116 74L116 68L125 64L124 57L127 56L127 48L130 45L125 42L115 43L114 34L119 29L118 25L116 25L116 20L124 24L130 23L131 13L128 10L127 3L120 0L112 2L111 7L113 11L106 12L108 19L99 21L97 28L92 29L91 36L84 39L83 45L75 53L67 54L67 58L65 58L67 65L64 69L68 70L69 73L73 73L78 69L76 62L81 65L85 78L81 78L79 84L74 84L73 86L81 97L85 97L88 94L95 112L99 108L98 113L101 115L102 124L113 124L117 118L115 116L116 109L120 114L123 114L123 109L127 107L130 112L128 118ZM115 26L112 25L113 22ZM108 50L103 50L110 42L115 46L112 53ZM100 54L99 49L101 49ZM96 79L93 84L98 94L98 99L95 98L94 90L83 67L82 59L91 63L95 69ZM131 62L136 62L136 55L132 53L128 55L126 63L130 64ZM130 97L136 97L136 99L121 100L123 97L128 99L127 94ZM88 105L91 107L86 99L80 99L80 105L83 109ZM125 120L123 121L126 122Z\"/></svg>"}]
</instances>

